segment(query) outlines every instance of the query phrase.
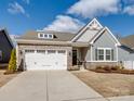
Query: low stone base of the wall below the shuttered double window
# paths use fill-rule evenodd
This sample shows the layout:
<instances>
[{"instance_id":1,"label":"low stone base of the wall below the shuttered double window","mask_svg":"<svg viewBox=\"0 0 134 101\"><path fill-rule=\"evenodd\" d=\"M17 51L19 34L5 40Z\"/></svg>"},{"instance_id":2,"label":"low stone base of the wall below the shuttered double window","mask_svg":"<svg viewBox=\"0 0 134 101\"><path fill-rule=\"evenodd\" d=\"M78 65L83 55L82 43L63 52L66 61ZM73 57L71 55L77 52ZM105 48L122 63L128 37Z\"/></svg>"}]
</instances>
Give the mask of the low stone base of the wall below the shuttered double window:
<instances>
[{"instance_id":1,"label":"low stone base of the wall below the shuttered double window","mask_svg":"<svg viewBox=\"0 0 134 101\"><path fill-rule=\"evenodd\" d=\"M105 65L116 66L116 65L118 65L118 62L86 62L86 63L84 63L84 66L88 70L93 70L97 66L105 66Z\"/></svg>"}]
</instances>

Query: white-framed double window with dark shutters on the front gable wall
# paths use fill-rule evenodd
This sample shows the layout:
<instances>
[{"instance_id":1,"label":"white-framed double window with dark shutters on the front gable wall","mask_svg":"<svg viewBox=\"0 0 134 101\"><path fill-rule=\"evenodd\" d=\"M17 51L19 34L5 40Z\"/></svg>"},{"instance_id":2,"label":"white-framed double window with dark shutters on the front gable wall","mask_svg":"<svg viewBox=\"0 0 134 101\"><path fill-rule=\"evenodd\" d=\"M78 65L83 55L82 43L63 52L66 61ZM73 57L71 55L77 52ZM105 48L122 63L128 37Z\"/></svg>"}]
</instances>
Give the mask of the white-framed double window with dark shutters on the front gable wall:
<instances>
[{"instance_id":1,"label":"white-framed double window with dark shutters on the front gable wall","mask_svg":"<svg viewBox=\"0 0 134 101\"><path fill-rule=\"evenodd\" d=\"M96 60L97 61L112 61L113 60L113 50L110 48L96 49Z\"/></svg>"}]
</instances>

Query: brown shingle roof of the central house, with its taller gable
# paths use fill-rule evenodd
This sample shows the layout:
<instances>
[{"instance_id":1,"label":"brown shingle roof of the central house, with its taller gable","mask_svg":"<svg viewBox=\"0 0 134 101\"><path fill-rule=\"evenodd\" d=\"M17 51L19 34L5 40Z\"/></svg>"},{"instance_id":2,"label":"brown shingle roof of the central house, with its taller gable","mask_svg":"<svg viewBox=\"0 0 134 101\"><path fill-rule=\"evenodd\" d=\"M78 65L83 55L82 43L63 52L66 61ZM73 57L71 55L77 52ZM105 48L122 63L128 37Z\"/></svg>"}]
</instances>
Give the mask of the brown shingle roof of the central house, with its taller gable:
<instances>
[{"instance_id":1,"label":"brown shingle roof of the central house, with its taller gable","mask_svg":"<svg viewBox=\"0 0 134 101\"><path fill-rule=\"evenodd\" d=\"M103 31L108 30L111 37L113 37L117 45L120 45L118 39L112 35L112 33L107 28L103 27L99 22L96 18L93 18L91 22L89 22L83 28L81 28L77 34L71 33L63 33L63 31L54 31L54 30L31 30L23 35L22 37L17 38L17 42L22 40L43 40L43 42L48 41L70 41L70 42L88 42L93 43L97 37L99 37ZM53 39L43 39L38 38L38 33L44 33L44 34L53 34ZM84 43L86 45L86 43ZM76 46L76 45L75 45Z\"/></svg>"}]
</instances>

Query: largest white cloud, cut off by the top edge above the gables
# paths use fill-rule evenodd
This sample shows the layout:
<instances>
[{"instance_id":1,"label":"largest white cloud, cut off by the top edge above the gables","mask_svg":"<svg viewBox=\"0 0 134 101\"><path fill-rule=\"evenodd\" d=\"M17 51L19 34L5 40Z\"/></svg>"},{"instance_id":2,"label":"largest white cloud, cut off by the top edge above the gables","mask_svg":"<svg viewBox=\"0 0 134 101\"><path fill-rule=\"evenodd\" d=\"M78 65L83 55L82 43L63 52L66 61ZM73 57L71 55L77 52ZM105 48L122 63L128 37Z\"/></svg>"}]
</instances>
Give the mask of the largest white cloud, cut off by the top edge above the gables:
<instances>
[{"instance_id":1,"label":"largest white cloud, cut off by the top edge above the gables","mask_svg":"<svg viewBox=\"0 0 134 101\"><path fill-rule=\"evenodd\" d=\"M79 0L68 9L69 14L95 17L120 11L120 0Z\"/></svg>"}]
</instances>

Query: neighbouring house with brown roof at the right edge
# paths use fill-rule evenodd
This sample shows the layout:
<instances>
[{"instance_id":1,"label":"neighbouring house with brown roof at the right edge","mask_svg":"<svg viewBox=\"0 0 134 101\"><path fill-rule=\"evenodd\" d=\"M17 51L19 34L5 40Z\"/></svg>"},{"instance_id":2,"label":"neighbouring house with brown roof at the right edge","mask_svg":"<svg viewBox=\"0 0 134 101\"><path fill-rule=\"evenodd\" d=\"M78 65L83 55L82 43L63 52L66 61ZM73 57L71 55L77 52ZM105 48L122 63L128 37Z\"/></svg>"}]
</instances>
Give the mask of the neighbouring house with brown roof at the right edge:
<instances>
[{"instance_id":1,"label":"neighbouring house with brown roof at the right edge","mask_svg":"<svg viewBox=\"0 0 134 101\"><path fill-rule=\"evenodd\" d=\"M134 35L121 38L120 42L122 43L119 54L120 60L123 61L124 67L134 70Z\"/></svg>"}]
</instances>

